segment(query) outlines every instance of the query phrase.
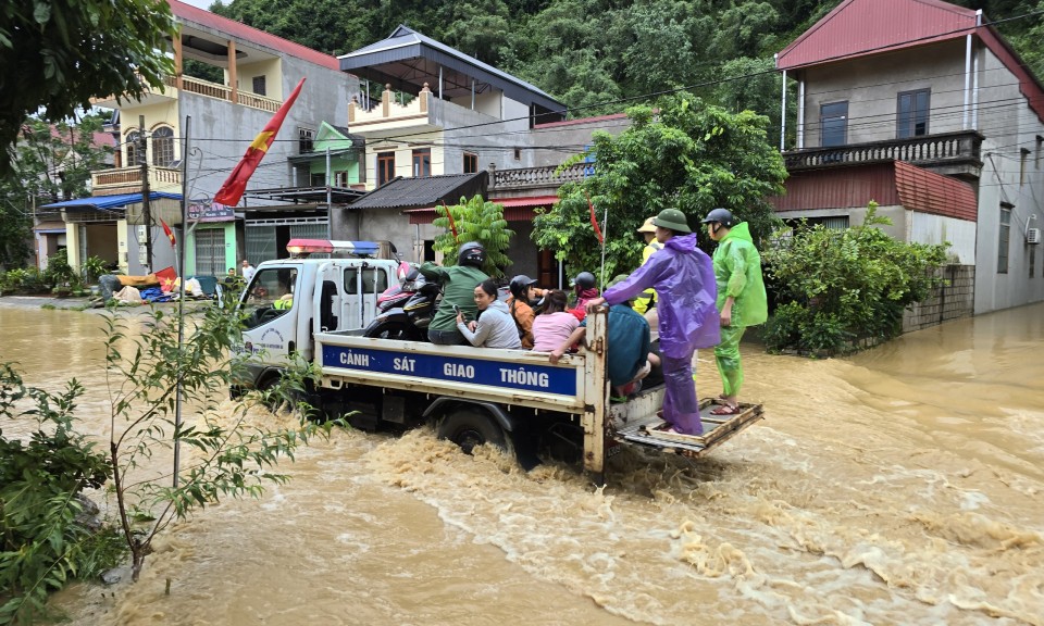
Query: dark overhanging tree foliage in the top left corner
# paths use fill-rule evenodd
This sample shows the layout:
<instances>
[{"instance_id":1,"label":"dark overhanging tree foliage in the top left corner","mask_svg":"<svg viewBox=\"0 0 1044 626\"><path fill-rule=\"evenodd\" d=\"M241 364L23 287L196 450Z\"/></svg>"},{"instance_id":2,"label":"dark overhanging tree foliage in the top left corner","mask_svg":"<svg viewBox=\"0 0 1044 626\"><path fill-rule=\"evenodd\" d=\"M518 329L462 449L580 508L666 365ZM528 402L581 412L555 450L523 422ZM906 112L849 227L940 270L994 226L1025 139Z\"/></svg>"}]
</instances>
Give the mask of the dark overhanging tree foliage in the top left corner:
<instances>
[{"instance_id":1,"label":"dark overhanging tree foliage in the top left corner","mask_svg":"<svg viewBox=\"0 0 1044 626\"><path fill-rule=\"evenodd\" d=\"M90 99L137 98L174 71L176 37L162 0L11 0L0 8L0 175L26 115L48 120L90 109Z\"/></svg>"}]
</instances>

